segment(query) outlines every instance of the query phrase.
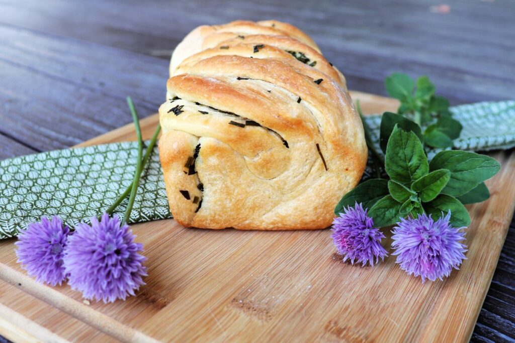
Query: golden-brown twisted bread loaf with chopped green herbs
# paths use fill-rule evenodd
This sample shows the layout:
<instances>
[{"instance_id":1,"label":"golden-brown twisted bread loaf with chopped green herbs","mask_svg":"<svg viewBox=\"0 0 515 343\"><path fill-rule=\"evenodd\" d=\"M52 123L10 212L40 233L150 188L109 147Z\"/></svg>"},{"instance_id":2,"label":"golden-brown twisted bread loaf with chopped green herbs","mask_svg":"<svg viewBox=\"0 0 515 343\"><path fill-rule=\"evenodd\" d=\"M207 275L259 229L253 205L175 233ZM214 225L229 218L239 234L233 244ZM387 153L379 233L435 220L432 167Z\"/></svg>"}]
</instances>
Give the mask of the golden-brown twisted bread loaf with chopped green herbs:
<instances>
[{"instance_id":1,"label":"golden-brown twisted bread loaf with chopped green herbs","mask_svg":"<svg viewBox=\"0 0 515 343\"><path fill-rule=\"evenodd\" d=\"M363 174L345 78L294 26L200 26L177 46L159 109L171 213L184 226L328 227Z\"/></svg>"}]
</instances>

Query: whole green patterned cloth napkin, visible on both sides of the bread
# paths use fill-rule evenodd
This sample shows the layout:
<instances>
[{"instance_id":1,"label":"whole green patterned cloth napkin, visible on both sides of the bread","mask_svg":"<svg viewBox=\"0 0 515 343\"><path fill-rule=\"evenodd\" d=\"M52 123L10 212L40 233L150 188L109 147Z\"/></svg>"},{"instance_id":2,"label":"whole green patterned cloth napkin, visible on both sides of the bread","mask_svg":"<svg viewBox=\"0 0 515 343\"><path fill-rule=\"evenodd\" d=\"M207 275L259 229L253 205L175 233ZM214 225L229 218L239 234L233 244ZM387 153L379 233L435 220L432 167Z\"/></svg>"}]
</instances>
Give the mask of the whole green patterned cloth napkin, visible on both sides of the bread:
<instances>
[{"instance_id":1,"label":"whole green patterned cloth napkin, visible on both sides of the bread","mask_svg":"<svg viewBox=\"0 0 515 343\"><path fill-rule=\"evenodd\" d=\"M464 127L454 141L456 148L492 150L515 146L515 101L461 105L451 111ZM381 116L368 116L366 120L372 139L379 142ZM137 157L137 143L123 142L1 161L0 239L15 236L43 215L59 214L71 227L99 215L132 183ZM127 200L115 213L123 214L126 205ZM171 218L171 214L155 148L142 174L129 222L164 218Z\"/></svg>"}]
</instances>

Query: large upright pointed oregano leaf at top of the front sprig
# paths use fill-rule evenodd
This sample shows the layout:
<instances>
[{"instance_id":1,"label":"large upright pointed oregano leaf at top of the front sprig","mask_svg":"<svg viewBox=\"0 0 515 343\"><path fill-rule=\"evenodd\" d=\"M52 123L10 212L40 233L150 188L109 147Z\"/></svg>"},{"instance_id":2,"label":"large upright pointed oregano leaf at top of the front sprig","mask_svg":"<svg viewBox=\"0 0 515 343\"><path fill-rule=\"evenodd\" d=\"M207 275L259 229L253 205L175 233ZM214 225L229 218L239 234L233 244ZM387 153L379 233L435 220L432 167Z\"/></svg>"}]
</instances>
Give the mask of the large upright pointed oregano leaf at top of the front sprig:
<instances>
[{"instance_id":1,"label":"large upright pointed oregano leaf at top of the front sprig","mask_svg":"<svg viewBox=\"0 0 515 343\"><path fill-rule=\"evenodd\" d=\"M385 170L392 180L404 185L428 173L427 156L420 139L413 132L397 126L393 129L386 148Z\"/></svg>"}]
</instances>

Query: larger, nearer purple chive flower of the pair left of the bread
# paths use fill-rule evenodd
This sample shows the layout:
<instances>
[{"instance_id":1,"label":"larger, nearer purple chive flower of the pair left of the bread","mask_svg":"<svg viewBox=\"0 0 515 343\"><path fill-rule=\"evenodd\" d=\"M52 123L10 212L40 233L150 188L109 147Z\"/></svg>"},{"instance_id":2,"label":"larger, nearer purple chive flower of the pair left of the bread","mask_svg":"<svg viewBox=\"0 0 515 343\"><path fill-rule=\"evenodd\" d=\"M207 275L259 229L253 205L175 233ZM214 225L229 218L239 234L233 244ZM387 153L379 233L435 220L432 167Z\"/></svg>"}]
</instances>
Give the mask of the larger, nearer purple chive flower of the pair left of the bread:
<instances>
[{"instance_id":1,"label":"larger, nearer purple chive flower of the pair left of the bread","mask_svg":"<svg viewBox=\"0 0 515 343\"><path fill-rule=\"evenodd\" d=\"M91 218L91 225L79 223L64 250L64 268L68 283L84 298L113 302L134 295L145 283L146 258L138 251L143 245L134 242L127 224L118 216L101 221Z\"/></svg>"}]
</instances>

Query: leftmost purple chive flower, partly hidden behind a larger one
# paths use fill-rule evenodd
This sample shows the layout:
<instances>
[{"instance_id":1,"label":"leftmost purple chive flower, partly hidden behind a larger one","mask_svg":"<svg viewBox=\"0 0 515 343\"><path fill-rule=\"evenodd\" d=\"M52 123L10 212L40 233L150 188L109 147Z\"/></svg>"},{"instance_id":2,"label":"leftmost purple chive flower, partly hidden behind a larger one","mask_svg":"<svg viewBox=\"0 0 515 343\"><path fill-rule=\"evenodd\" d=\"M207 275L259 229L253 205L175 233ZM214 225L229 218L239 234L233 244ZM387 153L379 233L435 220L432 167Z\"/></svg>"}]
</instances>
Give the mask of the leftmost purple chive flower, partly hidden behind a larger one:
<instances>
[{"instance_id":1,"label":"leftmost purple chive flower, partly hidden behind a larger one","mask_svg":"<svg viewBox=\"0 0 515 343\"><path fill-rule=\"evenodd\" d=\"M59 216L46 217L31 223L18 235L16 256L27 274L36 281L55 286L66 278L63 267L63 250L70 228L63 225Z\"/></svg>"}]
</instances>

